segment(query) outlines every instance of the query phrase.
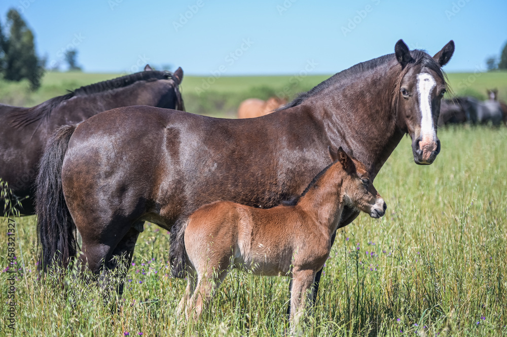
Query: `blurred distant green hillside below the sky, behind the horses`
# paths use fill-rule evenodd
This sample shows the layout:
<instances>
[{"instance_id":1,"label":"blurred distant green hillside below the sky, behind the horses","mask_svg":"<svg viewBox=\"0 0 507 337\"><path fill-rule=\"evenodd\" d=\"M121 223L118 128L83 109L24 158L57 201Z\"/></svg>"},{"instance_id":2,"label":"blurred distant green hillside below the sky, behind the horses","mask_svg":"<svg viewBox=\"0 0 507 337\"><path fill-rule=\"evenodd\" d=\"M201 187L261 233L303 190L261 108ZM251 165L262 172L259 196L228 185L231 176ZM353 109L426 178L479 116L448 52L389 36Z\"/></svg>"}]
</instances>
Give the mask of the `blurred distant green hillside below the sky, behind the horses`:
<instances>
[{"instance_id":1,"label":"blurred distant green hillside below the sky, behind the horses","mask_svg":"<svg viewBox=\"0 0 507 337\"><path fill-rule=\"evenodd\" d=\"M119 77L118 73L48 72L37 92L29 91L27 82L12 83L0 80L0 102L31 106L63 95L91 83ZM313 76L238 76L196 77L185 76L182 84L187 110L193 113L233 117L239 103L250 97L267 99L273 95L286 95L292 99L331 75ZM448 73L455 95L472 95L486 99L486 89L497 88L500 99L507 100L507 71L478 73Z\"/></svg>"}]
</instances>

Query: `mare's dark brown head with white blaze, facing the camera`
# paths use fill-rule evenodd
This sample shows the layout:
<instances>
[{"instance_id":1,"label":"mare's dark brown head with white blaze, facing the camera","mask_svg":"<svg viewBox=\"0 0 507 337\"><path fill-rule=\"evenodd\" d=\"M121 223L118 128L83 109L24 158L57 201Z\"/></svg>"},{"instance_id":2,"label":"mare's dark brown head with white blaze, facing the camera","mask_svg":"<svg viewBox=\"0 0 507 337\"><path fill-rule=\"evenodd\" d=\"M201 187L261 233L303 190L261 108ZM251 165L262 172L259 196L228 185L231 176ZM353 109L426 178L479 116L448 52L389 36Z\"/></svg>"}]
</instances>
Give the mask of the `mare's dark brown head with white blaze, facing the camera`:
<instances>
[{"instance_id":1,"label":"mare's dark brown head with white blaze, facing the camera","mask_svg":"<svg viewBox=\"0 0 507 337\"><path fill-rule=\"evenodd\" d=\"M433 163L440 153L437 122L440 101L446 91L442 66L454 53L451 40L433 57L423 51L410 51L400 40L394 46L394 54L402 66L400 81L395 92L398 124L412 138L414 161L419 165Z\"/></svg>"}]
</instances>

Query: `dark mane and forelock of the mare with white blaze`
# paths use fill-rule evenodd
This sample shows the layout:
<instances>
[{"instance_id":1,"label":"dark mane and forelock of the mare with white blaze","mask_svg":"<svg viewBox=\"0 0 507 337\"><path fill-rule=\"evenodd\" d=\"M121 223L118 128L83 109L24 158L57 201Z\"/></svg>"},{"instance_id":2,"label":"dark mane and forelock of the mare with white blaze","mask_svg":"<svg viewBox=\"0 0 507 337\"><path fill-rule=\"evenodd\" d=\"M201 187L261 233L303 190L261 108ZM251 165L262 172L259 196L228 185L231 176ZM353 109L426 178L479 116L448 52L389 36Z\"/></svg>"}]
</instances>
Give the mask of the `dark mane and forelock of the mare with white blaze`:
<instances>
[{"instance_id":1,"label":"dark mane and forelock of the mare with white blaze","mask_svg":"<svg viewBox=\"0 0 507 337\"><path fill-rule=\"evenodd\" d=\"M442 72L442 69L440 68L440 66L425 51L416 49L416 50L411 50L410 54L412 55L413 60L407 64L407 66L406 66L407 71L408 71L408 69L410 69L411 67L413 67L417 64L422 64L423 66L430 68L431 70L433 70L437 74L440 74L440 76L442 76L442 79L444 79L443 72ZM329 79L317 84L311 90L298 94L298 96L295 99L293 99L291 102L279 107L277 109L277 111L278 110L285 110L285 109L300 105L307 98L313 97L313 96L319 94L324 89L330 88L338 83L341 83L344 80L349 80L350 77L352 77L352 76L355 76L360 73L364 73L365 71L369 71L371 69L375 69L378 66L384 65L384 64L386 64L392 60L395 60L395 59L396 59L396 56L393 53L393 54L383 55L383 56L371 59L369 61L357 63L348 69L342 70L342 71L334 74Z\"/></svg>"}]
</instances>

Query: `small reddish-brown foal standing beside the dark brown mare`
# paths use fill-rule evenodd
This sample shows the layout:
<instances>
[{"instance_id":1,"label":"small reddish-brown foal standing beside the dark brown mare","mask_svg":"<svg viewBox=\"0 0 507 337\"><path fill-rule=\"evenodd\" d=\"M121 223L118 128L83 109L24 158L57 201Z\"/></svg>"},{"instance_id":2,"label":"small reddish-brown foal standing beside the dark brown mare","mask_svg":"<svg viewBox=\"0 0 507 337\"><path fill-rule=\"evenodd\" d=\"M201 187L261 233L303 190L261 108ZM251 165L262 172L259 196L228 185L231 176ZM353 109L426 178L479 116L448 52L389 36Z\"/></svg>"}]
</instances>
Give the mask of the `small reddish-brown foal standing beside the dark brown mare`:
<instances>
[{"instance_id":1,"label":"small reddish-brown foal standing beside the dark brown mare","mask_svg":"<svg viewBox=\"0 0 507 337\"><path fill-rule=\"evenodd\" d=\"M255 275L291 276L291 330L296 332L316 273L329 256L343 207L379 218L387 208L367 168L340 147L292 206L253 208L230 201L207 204L194 212L185 231L190 273L178 306L200 317L230 267ZM309 301L305 298L309 297Z\"/></svg>"}]
</instances>

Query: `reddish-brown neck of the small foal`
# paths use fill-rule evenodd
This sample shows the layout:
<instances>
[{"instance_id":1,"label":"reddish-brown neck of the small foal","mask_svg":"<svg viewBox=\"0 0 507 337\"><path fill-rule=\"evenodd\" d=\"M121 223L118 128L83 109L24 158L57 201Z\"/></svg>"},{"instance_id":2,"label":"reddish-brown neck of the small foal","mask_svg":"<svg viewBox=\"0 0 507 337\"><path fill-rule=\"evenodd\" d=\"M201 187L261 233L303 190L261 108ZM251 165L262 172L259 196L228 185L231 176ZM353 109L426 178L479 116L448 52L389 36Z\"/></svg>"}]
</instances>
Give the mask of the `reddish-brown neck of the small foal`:
<instances>
[{"instance_id":1,"label":"reddish-brown neck of the small foal","mask_svg":"<svg viewBox=\"0 0 507 337\"><path fill-rule=\"evenodd\" d=\"M335 162L315 178L296 204L329 238L336 231L343 210L342 184L345 174L341 164Z\"/></svg>"}]
</instances>

